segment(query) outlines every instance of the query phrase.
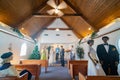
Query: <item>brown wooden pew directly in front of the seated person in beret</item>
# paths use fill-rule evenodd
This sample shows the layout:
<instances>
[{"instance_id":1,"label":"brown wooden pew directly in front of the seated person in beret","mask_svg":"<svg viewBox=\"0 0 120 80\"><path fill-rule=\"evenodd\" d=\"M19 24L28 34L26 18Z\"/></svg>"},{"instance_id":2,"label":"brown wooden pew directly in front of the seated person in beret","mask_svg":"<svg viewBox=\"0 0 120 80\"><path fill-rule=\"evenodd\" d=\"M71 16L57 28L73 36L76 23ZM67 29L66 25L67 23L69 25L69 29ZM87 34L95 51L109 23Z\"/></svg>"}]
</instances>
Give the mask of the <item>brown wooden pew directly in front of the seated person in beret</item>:
<instances>
[{"instance_id":1,"label":"brown wooden pew directly in front of the seated person in beret","mask_svg":"<svg viewBox=\"0 0 120 80\"><path fill-rule=\"evenodd\" d=\"M41 73L41 65L36 64L17 64L15 65L15 68L18 71L22 71L24 69L30 71L32 75L35 76L35 80L39 80L39 75Z\"/></svg>"}]
</instances>

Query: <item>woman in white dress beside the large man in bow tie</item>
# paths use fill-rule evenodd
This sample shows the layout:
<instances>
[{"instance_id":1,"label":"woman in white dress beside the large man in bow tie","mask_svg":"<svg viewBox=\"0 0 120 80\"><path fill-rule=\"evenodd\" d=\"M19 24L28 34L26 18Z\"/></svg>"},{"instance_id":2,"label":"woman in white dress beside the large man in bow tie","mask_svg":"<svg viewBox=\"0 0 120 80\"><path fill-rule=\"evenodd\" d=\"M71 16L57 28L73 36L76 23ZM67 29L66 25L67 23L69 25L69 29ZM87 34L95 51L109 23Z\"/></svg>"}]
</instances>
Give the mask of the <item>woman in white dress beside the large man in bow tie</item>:
<instances>
[{"instance_id":1,"label":"woman in white dress beside the large man in bow tie","mask_svg":"<svg viewBox=\"0 0 120 80\"><path fill-rule=\"evenodd\" d=\"M88 70L90 71L88 75L101 75L104 76L105 72L103 71L101 64L99 63L99 59L96 55L96 51L92 48L94 44L94 40L89 40L89 60L88 60Z\"/></svg>"}]
</instances>

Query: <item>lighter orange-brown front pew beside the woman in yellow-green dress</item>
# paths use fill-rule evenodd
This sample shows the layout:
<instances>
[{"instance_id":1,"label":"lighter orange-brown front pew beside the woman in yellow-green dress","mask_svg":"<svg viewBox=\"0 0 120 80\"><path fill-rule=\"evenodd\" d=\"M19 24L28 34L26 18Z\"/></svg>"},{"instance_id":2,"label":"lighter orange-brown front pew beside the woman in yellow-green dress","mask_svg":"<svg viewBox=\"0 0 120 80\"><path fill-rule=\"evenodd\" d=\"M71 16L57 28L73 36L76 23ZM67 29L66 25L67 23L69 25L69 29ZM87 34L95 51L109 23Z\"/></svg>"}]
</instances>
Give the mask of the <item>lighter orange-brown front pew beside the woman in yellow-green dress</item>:
<instances>
[{"instance_id":1,"label":"lighter orange-brown front pew beside the woman in yellow-green dress","mask_svg":"<svg viewBox=\"0 0 120 80\"><path fill-rule=\"evenodd\" d=\"M21 64L37 64L41 65L42 67L45 67L45 72L47 72L48 68L48 60L21 60Z\"/></svg>"}]
</instances>

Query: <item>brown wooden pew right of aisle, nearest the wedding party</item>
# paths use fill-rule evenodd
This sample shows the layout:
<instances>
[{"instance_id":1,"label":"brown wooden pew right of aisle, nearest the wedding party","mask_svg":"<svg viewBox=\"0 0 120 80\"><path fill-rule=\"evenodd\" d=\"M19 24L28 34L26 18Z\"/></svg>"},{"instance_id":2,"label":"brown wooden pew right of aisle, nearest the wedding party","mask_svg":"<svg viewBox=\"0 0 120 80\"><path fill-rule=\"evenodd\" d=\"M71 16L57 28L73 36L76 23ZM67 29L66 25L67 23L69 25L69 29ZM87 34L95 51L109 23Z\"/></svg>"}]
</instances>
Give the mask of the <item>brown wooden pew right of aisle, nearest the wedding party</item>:
<instances>
[{"instance_id":1,"label":"brown wooden pew right of aisle, nearest the wedding party","mask_svg":"<svg viewBox=\"0 0 120 80\"><path fill-rule=\"evenodd\" d=\"M88 69L88 61L87 60L79 60L79 61L69 61L70 69L70 75L72 78L75 78L75 76L78 76L78 73L81 72L84 76L87 75L87 69Z\"/></svg>"}]
</instances>

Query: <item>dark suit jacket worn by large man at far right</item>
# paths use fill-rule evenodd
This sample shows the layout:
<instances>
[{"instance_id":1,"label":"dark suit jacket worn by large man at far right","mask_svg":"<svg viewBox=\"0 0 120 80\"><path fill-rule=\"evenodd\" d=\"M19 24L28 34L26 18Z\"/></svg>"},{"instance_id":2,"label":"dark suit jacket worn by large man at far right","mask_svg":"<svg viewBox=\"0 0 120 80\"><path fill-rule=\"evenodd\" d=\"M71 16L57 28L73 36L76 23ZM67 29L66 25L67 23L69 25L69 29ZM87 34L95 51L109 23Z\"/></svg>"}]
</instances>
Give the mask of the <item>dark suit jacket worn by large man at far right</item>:
<instances>
[{"instance_id":1,"label":"dark suit jacket worn by large man at far right","mask_svg":"<svg viewBox=\"0 0 120 80\"><path fill-rule=\"evenodd\" d=\"M106 51L103 44L97 46L97 55L103 64L113 64L119 62L119 53L114 45L109 45L108 52Z\"/></svg>"}]
</instances>

